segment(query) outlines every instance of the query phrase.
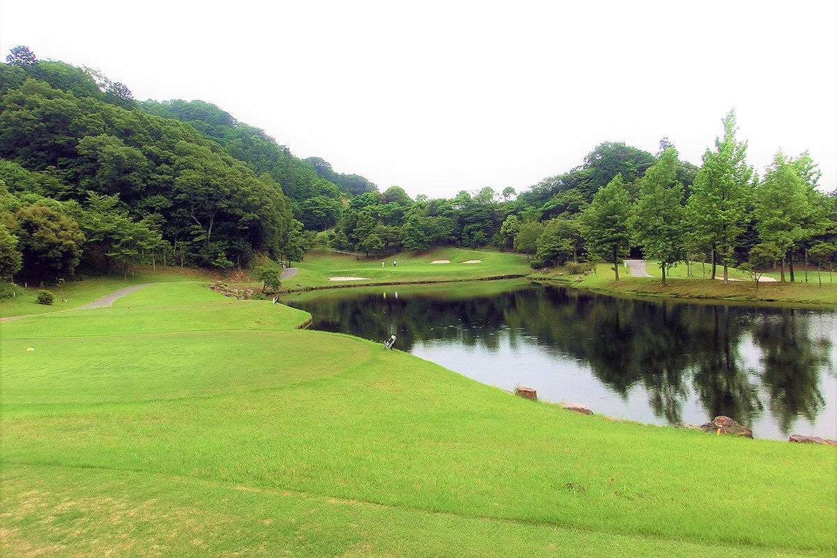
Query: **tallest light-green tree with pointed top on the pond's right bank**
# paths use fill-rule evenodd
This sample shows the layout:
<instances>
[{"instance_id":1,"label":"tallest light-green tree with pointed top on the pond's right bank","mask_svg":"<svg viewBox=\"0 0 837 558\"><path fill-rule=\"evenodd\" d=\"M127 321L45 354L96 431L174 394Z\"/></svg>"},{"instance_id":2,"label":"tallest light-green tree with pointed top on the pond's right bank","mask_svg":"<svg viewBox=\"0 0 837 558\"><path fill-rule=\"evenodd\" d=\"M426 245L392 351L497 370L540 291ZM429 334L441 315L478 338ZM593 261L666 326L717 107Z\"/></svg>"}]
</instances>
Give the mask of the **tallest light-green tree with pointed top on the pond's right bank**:
<instances>
[{"instance_id":1,"label":"tallest light-green tree with pointed top on the pond's right bank","mask_svg":"<svg viewBox=\"0 0 837 558\"><path fill-rule=\"evenodd\" d=\"M706 150L689 198L692 231L712 253L712 277L717 259L724 266L724 283L736 238L744 232L747 202L752 190L752 166L747 166L747 142L736 139L735 111L723 120L724 136L715 151Z\"/></svg>"}]
</instances>

